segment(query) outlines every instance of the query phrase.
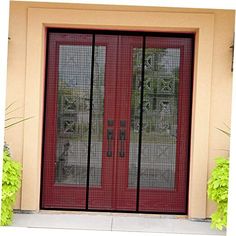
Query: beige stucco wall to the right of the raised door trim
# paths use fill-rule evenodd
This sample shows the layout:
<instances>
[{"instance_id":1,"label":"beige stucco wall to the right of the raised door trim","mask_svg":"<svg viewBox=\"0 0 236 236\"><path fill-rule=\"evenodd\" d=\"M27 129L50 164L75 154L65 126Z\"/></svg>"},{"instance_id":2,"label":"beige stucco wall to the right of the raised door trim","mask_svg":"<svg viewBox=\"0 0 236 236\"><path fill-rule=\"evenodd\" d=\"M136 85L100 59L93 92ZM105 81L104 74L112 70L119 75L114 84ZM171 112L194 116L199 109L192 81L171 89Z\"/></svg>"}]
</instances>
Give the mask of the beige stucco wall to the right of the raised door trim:
<instances>
[{"instance_id":1,"label":"beige stucco wall to the right of the raised door trim","mask_svg":"<svg viewBox=\"0 0 236 236\"><path fill-rule=\"evenodd\" d=\"M234 27L232 17L233 15L229 16L227 12L215 14L208 176L214 167L215 158L229 155L227 150L229 150L230 139L216 128L227 130L226 125L230 126L231 123L233 73L231 72L232 49L230 49L230 46L233 44ZM232 24L230 27L226 27L229 26L229 22L232 22ZM207 216L210 216L214 209L215 205L208 201Z\"/></svg>"}]
</instances>

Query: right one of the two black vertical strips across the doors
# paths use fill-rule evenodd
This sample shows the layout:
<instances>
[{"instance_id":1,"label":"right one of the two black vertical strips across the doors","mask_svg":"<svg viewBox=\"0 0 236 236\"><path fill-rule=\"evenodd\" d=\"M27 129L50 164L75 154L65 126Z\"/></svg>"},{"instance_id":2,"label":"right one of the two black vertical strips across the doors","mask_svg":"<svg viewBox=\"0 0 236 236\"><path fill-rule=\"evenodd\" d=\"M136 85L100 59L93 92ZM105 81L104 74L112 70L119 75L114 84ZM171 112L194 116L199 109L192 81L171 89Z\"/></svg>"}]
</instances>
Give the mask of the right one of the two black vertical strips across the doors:
<instances>
[{"instance_id":1,"label":"right one of the two black vertical strips across the doors","mask_svg":"<svg viewBox=\"0 0 236 236\"><path fill-rule=\"evenodd\" d=\"M141 75L141 94L140 94L140 120L139 120L139 141L138 141L137 194L136 194L136 211L137 212L139 211L139 192L140 192L140 173L141 173L143 96L144 96L144 76L145 76L145 47L146 47L146 36L143 36L142 75Z\"/></svg>"}]
</instances>

